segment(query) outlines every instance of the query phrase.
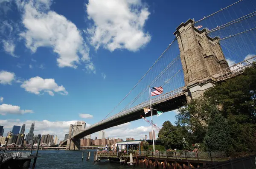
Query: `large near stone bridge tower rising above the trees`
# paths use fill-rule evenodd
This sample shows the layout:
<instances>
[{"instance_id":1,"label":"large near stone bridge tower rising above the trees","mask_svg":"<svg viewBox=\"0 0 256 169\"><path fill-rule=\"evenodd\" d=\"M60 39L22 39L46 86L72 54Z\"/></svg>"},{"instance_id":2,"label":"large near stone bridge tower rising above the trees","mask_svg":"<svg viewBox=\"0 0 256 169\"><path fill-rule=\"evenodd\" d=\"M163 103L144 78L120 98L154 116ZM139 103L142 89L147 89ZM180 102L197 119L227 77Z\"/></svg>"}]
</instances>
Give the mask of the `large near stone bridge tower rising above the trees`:
<instances>
[{"instance_id":1,"label":"large near stone bridge tower rising above the trees","mask_svg":"<svg viewBox=\"0 0 256 169\"><path fill-rule=\"evenodd\" d=\"M181 23L174 33L180 49L180 59L184 72L187 101L201 96L212 87L212 74L228 68L219 44L219 38L207 35L207 29L198 30L194 21Z\"/></svg>"}]
</instances>

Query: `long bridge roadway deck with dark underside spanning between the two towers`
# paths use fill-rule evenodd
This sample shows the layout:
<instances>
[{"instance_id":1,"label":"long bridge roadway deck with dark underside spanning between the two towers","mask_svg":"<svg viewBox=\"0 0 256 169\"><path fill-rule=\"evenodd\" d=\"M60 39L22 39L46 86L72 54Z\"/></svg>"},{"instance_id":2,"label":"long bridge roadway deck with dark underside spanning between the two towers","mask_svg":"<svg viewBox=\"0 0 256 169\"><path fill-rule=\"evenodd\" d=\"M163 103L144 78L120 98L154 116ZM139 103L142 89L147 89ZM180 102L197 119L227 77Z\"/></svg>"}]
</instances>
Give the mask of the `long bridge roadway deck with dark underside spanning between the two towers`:
<instances>
[{"instance_id":1,"label":"long bridge roadway deck with dark underside spanning between the two towers","mask_svg":"<svg viewBox=\"0 0 256 169\"><path fill-rule=\"evenodd\" d=\"M152 108L162 112L175 110L178 107L183 106L184 102L186 102L186 96L182 91L182 87L176 90L173 90L171 92L165 93L151 100ZM150 113L145 115L143 107L149 107L149 106L150 106L149 101L145 101L142 104L139 104L123 112L117 113L116 115L113 115L99 123L93 124L92 126L86 128L86 130L83 130L77 133L76 135L73 135L72 138L82 138L94 132L105 130L110 127L114 127L130 121L138 120L141 118L140 115L143 115L144 117L148 117L150 116ZM157 114L157 111L153 110L153 115L156 115L156 114ZM67 140L65 140L61 145L64 145L66 143L67 143Z\"/></svg>"}]
</instances>

